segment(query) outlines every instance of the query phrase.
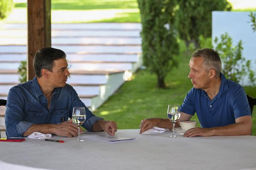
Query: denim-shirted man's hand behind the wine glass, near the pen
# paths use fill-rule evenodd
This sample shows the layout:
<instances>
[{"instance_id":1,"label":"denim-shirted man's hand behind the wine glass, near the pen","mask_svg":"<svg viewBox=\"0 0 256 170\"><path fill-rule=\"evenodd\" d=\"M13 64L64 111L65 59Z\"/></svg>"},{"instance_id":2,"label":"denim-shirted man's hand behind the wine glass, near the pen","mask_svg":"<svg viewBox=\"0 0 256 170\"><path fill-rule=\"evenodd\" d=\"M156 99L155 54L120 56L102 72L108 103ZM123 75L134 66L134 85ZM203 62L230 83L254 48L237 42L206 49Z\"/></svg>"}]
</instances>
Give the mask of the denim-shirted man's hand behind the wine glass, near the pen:
<instances>
[{"instance_id":1,"label":"denim-shirted man's hand behind the wine glass, near the pen","mask_svg":"<svg viewBox=\"0 0 256 170\"><path fill-rule=\"evenodd\" d=\"M53 133L58 136L76 137L78 136L78 126L72 123L72 119L60 124L54 124ZM80 131L82 131L80 129Z\"/></svg>"}]
</instances>

